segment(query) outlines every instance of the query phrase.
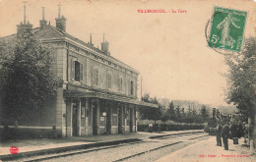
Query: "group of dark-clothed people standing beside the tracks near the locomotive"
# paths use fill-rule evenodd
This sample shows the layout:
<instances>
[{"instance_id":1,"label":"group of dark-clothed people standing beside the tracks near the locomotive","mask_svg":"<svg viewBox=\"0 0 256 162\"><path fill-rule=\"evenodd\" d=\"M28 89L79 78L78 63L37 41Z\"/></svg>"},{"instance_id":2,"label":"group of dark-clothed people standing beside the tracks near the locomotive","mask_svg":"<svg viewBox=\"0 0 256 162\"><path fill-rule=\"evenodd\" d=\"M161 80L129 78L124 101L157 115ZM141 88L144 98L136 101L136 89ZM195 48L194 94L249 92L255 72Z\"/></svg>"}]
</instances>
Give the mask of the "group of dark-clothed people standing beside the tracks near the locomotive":
<instances>
[{"instance_id":1,"label":"group of dark-clothed people standing beside the tracks near the locomotive","mask_svg":"<svg viewBox=\"0 0 256 162\"><path fill-rule=\"evenodd\" d=\"M224 142L224 149L228 150L228 138L242 137L245 134L245 127L239 122L225 122L224 126L219 122L216 128L217 145L222 146L222 137Z\"/></svg>"}]
</instances>

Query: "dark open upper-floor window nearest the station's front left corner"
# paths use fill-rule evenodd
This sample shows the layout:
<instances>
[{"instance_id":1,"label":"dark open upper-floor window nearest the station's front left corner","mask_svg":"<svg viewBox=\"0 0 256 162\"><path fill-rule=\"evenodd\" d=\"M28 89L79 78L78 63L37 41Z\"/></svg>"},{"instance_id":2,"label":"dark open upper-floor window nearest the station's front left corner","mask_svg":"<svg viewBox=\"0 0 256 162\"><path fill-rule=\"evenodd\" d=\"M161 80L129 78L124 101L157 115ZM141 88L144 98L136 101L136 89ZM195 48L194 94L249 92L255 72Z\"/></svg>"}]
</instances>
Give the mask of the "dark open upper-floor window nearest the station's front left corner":
<instances>
[{"instance_id":1,"label":"dark open upper-floor window nearest the station's front left corner","mask_svg":"<svg viewBox=\"0 0 256 162\"><path fill-rule=\"evenodd\" d=\"M83 64L72 59L71 61L71 80L83 81Z\"/></svg>"}]
</instances>

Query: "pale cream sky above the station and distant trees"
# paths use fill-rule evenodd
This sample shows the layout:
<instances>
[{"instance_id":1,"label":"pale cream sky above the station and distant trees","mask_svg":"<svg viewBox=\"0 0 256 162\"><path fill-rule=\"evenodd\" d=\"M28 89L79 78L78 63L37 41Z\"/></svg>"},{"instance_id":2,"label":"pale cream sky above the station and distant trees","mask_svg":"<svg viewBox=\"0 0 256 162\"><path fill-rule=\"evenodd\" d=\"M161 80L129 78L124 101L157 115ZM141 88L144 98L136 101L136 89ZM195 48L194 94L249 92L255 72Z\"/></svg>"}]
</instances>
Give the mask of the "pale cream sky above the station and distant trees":
<instances>
[{"instance_id":1,"label":"pale cream sky above the station and distant trees","mask_svg":"<svg viewBox=\"0 0 256 162\"><path fill-rule=\"evenodd\" d=\"M46 21L55 26L60 3L68 33L86 42L93 33L93 43L99 48L105 33L111 56L140 72L143 93L170 100L226 104L226 81L221 76L227 71L224 55L208 47L205 37L215 6L246 11L245 37L255 35L256 3L252 0L27 1L27 20L33 27L39 26L42 6ZM138 13L158 9L167 13ZM1 0L0 36L15 33L23 15L23 0Z\"/></svg>"}]
</instances>

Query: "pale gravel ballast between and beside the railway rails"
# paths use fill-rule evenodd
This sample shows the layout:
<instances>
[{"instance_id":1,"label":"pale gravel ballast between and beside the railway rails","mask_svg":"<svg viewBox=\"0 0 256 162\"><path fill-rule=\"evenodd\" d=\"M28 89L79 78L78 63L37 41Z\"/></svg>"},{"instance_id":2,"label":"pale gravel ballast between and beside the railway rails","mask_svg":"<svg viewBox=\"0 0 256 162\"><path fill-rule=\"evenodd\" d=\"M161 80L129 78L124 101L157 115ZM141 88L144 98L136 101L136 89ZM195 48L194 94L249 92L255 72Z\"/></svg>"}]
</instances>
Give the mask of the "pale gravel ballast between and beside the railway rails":
<instances>
[{"instance_id":1,"label":"pale gravel ballast between and beside the railway rails","mask_svg":"<svg viewBox=\"0 0 256 162\"><path fill-rule=\"evenodd\" d=\"M92 161L92 162L104 162L104 161L115 161L120 158L124 158L130 155L137 154L142 151L146 150L151 150L153 148L160 147L165 144L170 144L174 143L176 141L183 141L178 144L173 144L167 147L163 147L161 149L147 152L143 155L140 156L135 156L131 159L127 159L125 161L154 161L166 154L169 154L177 149L183 148L193 142L195 140L200 140L201 138L195 138L189 141L190 138L202 136L205 134L200 134L200 135L184 135L184 136L170 136L167 138L163 139L148 139L144 142L141 143L136 143L136 144L127 144L127 145L122 145L114 148L108 148L108 149L102 149L102 150L97 150L93 152L87 152L87 153L81 153L81 154L76 154L76 155L70 155L66 157L60 157L60 158L55 158L55 159L49 159L46 161Z\"/></svg>"}]
</instances>

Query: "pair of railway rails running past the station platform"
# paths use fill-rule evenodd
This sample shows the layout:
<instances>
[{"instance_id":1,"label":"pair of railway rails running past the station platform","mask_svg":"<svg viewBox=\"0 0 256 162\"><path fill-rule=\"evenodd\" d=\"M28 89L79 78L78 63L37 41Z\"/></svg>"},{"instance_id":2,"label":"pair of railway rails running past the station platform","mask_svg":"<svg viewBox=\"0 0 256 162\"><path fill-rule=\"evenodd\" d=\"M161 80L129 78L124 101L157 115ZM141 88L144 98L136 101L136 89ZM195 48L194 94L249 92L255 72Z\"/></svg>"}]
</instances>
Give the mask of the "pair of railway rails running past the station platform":
<instances>
[{"instance_id":1,"label":"pair of railway rails running past the station platform","mask_svg":"<svg viewBox=\"0 0 256 162\"><path fill-rule=\"evenodd\" d=\"M200 135L202 133L191 133L191 134L182 134L182 135L164 135L160 138L158 138L159 141L166 141L166 139L171 139L171 137L177 137L177 136L184 136L184 135ZM200 135L200 136L196 136L196 137L192 137L189 138L188 140L193 140L196 138L200 138L200 137L204 137L204 136L208 136L208 135ZM155 140L154 140L155 139ZM117 144L117 145L109 145L109 146L100 146L100 147L95 147L95 148L87 148L87 149L80 149L80 150L71 150L71 151L66 151L66 152L61 152L61 153L54 153L54 154L46 154L46 155L39 155L37 157L25 157L23 159L15 159L16 161L26 161L26 162L32 162L32 161L50 161L51 159L58 159L58 158L62 158L62 157L67 157L67 156L72 156L72 155L78 155L78 154L84 154L84 153L90 153L90 152L94 152L94 151L100 151L100 150L104 150L104 149L111 149L111 148L117 148L117 147L122 147L122 146L131 146L134 144L140 144L140 143L147 143L149 142L149 140L152 140L151 142L156 142L156 138L154 139L142 139L140 141L135 141L135 142L128 142L128 143L121 143L121 144ZM169 140L171 141L171 140ZM139 151L137 153L134 153L132 155L126 156L126 157L122 157L119 158L117 160L114 161L124 161L127 159L132 159L133 157L137 157L140 155L144 155L146 153L152 152L152 151L156 151L159 150L160 148L164 148L164 147L168 147L171 145L175 145L181 142L185 142L182 140L177 140L177 141L172 141L170 143L165 143L165 144L161 144L160 146L154 147L152 149L147 149L147 150L143 150L143 151ZM134 145L136 146L136 145Z\"/></svg>"}]
</instances>

